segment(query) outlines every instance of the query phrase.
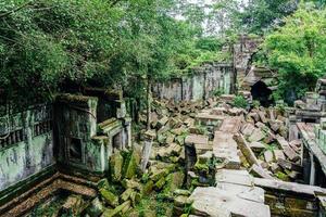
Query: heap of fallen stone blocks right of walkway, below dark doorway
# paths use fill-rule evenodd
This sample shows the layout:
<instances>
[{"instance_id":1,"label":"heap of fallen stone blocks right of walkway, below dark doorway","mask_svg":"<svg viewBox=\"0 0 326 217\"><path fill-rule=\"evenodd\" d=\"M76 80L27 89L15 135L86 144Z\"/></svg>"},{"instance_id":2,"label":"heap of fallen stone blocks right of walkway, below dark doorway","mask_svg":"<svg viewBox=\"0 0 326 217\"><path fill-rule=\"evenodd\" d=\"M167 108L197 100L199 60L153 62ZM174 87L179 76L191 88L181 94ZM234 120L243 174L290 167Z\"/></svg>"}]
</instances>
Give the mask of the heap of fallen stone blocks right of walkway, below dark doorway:
<instances>
[{"instance_id":1,"label":"heap of fallen stone blocks right of walkway, below dark doorway","mask_svg":"<svg viewBox=\"0 0 326 217\"><path fill-rule=\"evenodd\" d=\"M247 152L253 153L251 157L254 159L248 161L248 157L242 157L242 164L246 167L252 166L250 170L262 178L297 180L302 173L301 141L288 142L287 129L287 118L281 110L261 107L246 114L240 129L243 139L239 142L238 138L237 141L243 144L244 153L246 148Z\"/></svg>"}]
</instances>

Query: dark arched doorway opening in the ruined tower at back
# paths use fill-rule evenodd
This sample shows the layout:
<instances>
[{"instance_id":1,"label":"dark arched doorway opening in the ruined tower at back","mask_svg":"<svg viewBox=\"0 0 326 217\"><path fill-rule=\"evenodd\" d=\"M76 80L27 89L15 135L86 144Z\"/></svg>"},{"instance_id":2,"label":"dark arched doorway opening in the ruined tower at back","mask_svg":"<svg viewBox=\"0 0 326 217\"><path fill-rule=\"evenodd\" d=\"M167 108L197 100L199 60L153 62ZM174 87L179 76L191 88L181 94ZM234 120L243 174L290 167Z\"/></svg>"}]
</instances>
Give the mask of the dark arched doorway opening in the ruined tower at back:
<instances>
[{"instance_id":1,"label":"dark arched doorway opening in the ruined tower at back","mask_svg":"<svg viewBox=\"0 0 326 217\"><path fill-rule=\"evenodd\" d=\"M267 107L273 103L271 99L272 90L269 90L263 81L258 81L251 87L251 95L253 100L260 101L261 105Z\"/></svg>"}]
</instances>

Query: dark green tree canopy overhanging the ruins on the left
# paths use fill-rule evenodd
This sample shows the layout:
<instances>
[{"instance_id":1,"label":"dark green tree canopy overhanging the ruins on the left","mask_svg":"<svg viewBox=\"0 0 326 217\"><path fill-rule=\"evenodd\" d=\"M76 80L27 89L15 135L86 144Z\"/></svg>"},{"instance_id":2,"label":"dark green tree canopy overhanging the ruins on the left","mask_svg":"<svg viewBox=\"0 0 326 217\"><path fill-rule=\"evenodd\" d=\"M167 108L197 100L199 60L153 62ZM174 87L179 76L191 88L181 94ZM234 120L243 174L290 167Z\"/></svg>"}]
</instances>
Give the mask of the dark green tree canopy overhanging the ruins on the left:
<instances>
[{"instance_id":1,"label":"dark green tree canopy overhanging the ruins on the left","mask_svg":"<svg viewBox=\"0 0 326 217\"><path fill-rule=\"evenodd\" d=\"M2 95L24 104L88 84L120 84L142 94L147 78L218 58L221 42L203 37L200 24L175 20L175 5L173 0L1 1Z\"/></svg>"}]
</instances>

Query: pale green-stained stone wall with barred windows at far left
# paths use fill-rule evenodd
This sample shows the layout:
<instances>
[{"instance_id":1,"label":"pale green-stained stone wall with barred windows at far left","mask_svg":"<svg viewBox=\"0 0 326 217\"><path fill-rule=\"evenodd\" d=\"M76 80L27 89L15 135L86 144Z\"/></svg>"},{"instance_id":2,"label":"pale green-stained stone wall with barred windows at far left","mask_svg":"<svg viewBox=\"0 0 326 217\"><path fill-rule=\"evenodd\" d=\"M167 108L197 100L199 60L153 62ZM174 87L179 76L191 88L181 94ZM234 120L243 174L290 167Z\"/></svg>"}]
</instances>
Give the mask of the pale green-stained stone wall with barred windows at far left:
<instances>
[{"instance_id":1,"label":"pale green-stained stone wall with barred windows at far left","mask_svg":"<svg viewBox=\"0 0 326 217\"><path fill-rule=\"evenodd\" d=\"M53 164L50 105L0 117L0 191Z\"/></svg>"}]
</instances>

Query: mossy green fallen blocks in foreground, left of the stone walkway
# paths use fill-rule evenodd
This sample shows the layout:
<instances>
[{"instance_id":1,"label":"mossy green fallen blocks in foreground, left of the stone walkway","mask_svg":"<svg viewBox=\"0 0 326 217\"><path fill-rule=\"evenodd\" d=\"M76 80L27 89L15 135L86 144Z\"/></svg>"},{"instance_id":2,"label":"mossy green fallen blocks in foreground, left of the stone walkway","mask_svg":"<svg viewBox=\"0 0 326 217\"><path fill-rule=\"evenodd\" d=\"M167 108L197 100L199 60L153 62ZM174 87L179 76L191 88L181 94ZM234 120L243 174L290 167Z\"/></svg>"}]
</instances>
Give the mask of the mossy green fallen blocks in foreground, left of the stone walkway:
<instances>
[{"instance_id":1,"label":"mossy green fallen blocks in foreground, left of the stone walkway","mask_svg":"<svg viewBox=\"0 0 326 217\"><path fill-rule=\"evenodd\" d=\"M110 174L98 182L98 196L90 202L82 196L67 197L60 214L79 216L139 216L137 205L152 192L161 192L166 199L185 194L180 191L184 173L176 164L152 161L147 173L140 169L140 149L115 151L110 157ZM186 192L187 193L187 192ZM189 195L190 192L187 193ZM151 210L147 216L156 216Z\"/></svg>"}]
</instances>

